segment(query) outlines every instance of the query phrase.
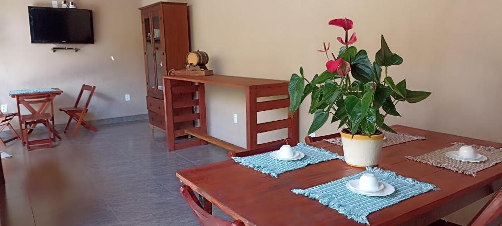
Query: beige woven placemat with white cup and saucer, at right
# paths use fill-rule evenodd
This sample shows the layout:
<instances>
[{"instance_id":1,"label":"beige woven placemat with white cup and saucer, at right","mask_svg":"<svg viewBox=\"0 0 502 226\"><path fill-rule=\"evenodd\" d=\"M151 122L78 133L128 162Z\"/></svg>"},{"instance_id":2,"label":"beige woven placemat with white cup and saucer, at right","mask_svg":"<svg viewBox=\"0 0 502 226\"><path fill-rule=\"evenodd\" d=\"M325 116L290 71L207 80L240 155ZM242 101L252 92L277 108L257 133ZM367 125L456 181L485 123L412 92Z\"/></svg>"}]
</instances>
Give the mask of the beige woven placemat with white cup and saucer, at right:
<instances>
[{"instance_id":1,"label":"beige woven placemat with white cup and saucer, at right","mask_svg":"<svg viewBox=\"0 0 502 226\"><path fill-rule=\"evenodd\" d=\"M411 159L417 162L427 163L433 166L443 167L459 173L465 173L467 175L476 176L476 172L484 170L490 166L493 166L499 162L502 162L502 148L486 147L481 145L470 145L476 152L481 155L486 156L487 160L483 162L462 162L454 159L448 158L445 154L449 151L458 151L460 147L465 145L464 143L455 142L452 143L453 146L429 152L420 156L412 157L406 156L407 159Z\"/></svg>"}]
</instances>

